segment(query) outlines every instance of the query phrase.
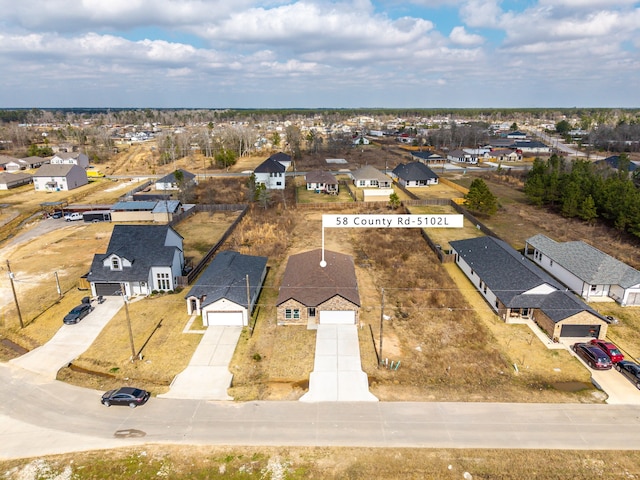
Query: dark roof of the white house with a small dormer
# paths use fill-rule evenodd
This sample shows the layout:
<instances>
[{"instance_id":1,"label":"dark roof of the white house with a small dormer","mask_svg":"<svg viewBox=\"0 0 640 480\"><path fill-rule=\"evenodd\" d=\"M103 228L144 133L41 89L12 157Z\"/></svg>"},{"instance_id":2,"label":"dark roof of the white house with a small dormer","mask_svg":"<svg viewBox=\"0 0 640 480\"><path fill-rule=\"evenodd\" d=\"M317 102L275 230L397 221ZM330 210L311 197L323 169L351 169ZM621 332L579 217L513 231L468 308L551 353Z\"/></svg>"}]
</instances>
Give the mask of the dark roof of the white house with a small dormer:
<instances>
[{"instance_id":1,"label":"dark roof of the white house with a small dormer","mask_svg":"<svg viewBox=\"0 0 640 480\"><path fill-rule=\"evenodd\" d=\"M107 253L93 256L90 282L147 281L151 267L171 267L175 246L165 246L169 231L182 238L168 225L115 225L107 247ZM131 262L131 267L112 271L103 266L105 258L117 255Z\"/></svg>"}]
</instances>

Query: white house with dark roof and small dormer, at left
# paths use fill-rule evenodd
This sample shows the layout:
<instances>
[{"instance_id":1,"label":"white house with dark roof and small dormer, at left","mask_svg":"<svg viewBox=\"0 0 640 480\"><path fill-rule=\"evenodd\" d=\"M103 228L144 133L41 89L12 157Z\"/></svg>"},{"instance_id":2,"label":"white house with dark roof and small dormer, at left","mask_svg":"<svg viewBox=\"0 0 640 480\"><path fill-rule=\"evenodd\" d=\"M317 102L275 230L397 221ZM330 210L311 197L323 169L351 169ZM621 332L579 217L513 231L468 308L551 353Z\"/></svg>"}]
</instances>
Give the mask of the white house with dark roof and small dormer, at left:
<instances>
[{"instance_id":1,"label":"white house with dark roof and small dormer, at left","mask_svg":"<svg viewBox=\"0 0 640 480\"><path fill-rule=\"evenodd\" d=\"M87 275L91 294L174 290L184 270L182 240L168 225L115 225L107 252L93 257Z\"/></svg>"}]
</instances>

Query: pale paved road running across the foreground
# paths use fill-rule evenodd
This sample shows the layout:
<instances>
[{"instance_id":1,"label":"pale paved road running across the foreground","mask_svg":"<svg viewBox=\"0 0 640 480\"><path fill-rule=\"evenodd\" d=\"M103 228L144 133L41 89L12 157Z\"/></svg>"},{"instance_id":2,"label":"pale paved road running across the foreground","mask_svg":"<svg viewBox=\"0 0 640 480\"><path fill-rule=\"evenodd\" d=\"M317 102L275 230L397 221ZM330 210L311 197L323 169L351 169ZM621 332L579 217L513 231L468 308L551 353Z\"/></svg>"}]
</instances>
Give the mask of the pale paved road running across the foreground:
<instances>
[{"instance_id":1,"label":"pale paved road running across the foreground","mask_svg":"<svg viewBox=\"0 0 640 480\"><path fill-rule=\"evenodd\" d=\"M0 364L0 458L132 444L640 449L640 406L207 402L104 407L102 392ZM594 433L597 432L597 433Z\"/></svg>"}]
</instances>

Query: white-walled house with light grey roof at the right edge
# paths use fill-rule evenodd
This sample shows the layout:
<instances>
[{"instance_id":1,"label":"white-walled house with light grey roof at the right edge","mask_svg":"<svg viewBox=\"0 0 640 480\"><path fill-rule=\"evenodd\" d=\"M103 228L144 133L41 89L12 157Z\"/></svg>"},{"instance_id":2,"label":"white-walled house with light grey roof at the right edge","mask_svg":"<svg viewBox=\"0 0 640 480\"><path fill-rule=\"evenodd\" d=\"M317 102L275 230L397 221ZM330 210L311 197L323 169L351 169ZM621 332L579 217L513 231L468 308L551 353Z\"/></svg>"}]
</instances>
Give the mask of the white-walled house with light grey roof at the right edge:
<instances>
[{"instance_id":1,"label":"white-walled house with light grey roof at the right edge","mask_svg":"<svg viewBox=\"0 0 640 480\"><path fill-rule=\"evenodd\" d=\"M640 305L640 272L588 243L538 234L527 239L525 255L588 302Z\"/></svg>"}]
</instances>

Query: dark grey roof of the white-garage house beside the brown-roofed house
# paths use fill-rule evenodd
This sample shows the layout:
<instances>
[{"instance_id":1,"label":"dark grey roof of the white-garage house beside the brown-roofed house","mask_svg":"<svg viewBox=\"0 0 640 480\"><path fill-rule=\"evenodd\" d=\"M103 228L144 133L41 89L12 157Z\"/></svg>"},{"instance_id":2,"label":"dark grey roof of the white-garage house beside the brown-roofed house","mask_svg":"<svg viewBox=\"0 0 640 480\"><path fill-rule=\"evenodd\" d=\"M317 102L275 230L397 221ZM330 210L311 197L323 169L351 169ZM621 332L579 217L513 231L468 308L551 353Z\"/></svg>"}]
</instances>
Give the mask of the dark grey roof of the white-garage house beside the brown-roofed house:
<instances>
[{"instance_id":1,"label":"dark grey roof of the white-garage house beside the brown-roofed house","mask_svg":"<svg viewBox=\"0 0 640 480\"><path fill-rule=\"evenodd\" d=\"M233 250L219 252L185 298L206 297L202 300L202 307L225 298L248 308L247 276L249 295L253 298L261 287L266 267L267 257L242 255Z\"/></svg>"}]
</instances>

